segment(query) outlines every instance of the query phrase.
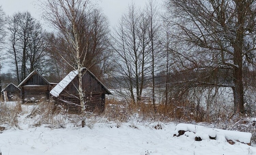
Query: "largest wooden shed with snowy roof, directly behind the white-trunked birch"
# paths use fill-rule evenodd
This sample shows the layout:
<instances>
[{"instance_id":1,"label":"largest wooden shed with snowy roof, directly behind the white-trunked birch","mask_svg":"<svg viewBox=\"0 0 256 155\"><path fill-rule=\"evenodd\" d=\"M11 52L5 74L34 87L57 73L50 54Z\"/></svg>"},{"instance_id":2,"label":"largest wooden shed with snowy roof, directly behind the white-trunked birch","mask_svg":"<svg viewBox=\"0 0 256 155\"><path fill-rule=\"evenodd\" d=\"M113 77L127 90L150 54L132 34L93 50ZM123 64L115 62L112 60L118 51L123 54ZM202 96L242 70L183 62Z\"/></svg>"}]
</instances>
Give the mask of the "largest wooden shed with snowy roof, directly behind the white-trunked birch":
<instances>
[{"instance_id":1,"label":"largest wooden shed with snowy roof, directly behind the white-trunked birch","mask_svg":"<svg viewBox=\"0 0 256 155\"><path fill-rule=\"evenodd\" d=\"M53 99L58 104L64 104L69 110L80 111L78 94L78 71L71 71L57 86L51 90ZM82 71L82 89L86 111L104 110L105 94L112 94L97 78L86 68Z\"/></svg>"}]
</instances>

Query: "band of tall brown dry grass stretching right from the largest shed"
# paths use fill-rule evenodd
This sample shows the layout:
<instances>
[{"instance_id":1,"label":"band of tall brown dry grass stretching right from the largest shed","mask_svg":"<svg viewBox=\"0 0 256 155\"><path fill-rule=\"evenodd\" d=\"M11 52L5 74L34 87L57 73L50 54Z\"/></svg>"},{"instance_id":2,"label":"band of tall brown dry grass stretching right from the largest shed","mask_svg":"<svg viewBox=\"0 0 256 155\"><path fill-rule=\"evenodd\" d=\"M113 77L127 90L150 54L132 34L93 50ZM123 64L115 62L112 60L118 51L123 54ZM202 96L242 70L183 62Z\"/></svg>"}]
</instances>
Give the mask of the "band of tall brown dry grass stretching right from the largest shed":
<instances>
[{"instance_id":1,"label":"band of tall brown dry grass stretching right from the largest shed","mask_svg":"<svg viewBox=\"0 0 256 155\"><path fill-rule=\"evenodd\" d=\"M111 99L106 100L104 114L110 121L118 120L122 122L126 122L133 117L134 114L138 114L144 121L182 120L215 122L220 118L228 120L232 115L230 110L230 107L224 107L223 105L211 111L205 110L203 107L186 100L183 102L171 101L167 105L157 104L156 111L154 111L153 104L143 102L136 104Z\"/></svg>"}]
</instances>

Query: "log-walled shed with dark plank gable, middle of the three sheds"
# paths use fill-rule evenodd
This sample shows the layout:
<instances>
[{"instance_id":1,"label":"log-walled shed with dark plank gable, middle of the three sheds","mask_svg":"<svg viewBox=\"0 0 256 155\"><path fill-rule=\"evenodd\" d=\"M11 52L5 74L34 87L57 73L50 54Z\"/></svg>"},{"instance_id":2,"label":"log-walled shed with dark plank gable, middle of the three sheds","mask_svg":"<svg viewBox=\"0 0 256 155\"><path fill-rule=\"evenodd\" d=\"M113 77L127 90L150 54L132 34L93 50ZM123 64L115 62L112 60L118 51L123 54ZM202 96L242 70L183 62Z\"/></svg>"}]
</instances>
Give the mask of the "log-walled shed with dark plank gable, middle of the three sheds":
<instances>
[{"instance_id":1,"label":"log-walled shed with dark plank gable, middle of the three sheds","mask_svg":"<svg viewBox=\"0 0 256 155\"><path fill-rule=\"evenodd\" d=\"M49 100L53 86L54 84L49 83L37 70L34 70L18 85L18 88L22 102L37 102Z\"/></svg>"}]
</instances>

